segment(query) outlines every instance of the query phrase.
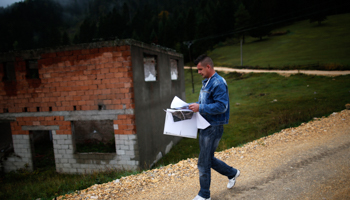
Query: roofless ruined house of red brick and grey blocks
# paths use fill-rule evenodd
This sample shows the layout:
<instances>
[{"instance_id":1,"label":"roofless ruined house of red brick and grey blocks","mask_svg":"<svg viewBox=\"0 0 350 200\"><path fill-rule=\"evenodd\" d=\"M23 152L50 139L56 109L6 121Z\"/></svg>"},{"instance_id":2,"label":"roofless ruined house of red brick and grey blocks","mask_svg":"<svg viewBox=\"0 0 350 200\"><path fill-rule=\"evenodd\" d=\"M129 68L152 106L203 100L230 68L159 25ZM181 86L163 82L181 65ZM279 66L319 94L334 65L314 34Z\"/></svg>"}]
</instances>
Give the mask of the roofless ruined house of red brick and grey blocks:
<instances>
[{"instance_id":1,"label":"roofless ruined house of red brick and grey blocks","mask_svg":"<svg viewBox=\"0 0 350 200\"><path fill-rule=\"evenodd\" d=\"M0 145L13 148L5 171L35 169L38 131L52 140L57 172L149 168L180 140L163 135L163 109L185 99L184 87L182 54L134 40L1 53ZM79 138L106 132L115 152L76 151Z\"/></svg>"}]
</instances>

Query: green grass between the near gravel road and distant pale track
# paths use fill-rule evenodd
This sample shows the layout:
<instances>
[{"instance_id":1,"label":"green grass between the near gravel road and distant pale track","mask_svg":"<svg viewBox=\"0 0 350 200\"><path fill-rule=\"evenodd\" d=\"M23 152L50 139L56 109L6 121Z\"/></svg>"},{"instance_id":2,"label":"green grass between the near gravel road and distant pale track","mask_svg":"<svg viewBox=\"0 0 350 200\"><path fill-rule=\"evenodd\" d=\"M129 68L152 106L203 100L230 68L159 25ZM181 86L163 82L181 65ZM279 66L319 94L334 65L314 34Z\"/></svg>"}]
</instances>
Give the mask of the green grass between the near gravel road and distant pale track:
<instances>
[{"instance_id":1,"label":"green grass between the near gravel road and distant pale track","mask_svg":"<svg viewBox=\"0 0 350 200\"><path fill-rule=\"evenodd\" d=\"M350 103L350 75L322 77L308 75L219 73L227 81L230 93L230 121L217 151L236 147L295 127L314 117L327 116L345 109ZM201 87L201 77L186 70L187 102L195 102ZM277 100L277 101L275 101ZM158 166L197 157L198 140L182 139L165 155Z\"/></svg>"}]
</instances>

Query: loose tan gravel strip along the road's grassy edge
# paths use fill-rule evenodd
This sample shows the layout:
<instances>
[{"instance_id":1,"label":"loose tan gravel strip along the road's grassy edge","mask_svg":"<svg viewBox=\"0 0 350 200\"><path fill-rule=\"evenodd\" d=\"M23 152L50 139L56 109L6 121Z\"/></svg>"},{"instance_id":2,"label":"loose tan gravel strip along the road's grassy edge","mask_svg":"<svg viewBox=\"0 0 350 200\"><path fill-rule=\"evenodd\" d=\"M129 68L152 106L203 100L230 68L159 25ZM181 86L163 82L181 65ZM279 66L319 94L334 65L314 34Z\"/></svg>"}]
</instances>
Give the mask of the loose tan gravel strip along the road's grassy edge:
<instances>
[{"instance_id":1,"label":"loose tan gravel strip along the road's grassy edge","mask_svg":"<svg viewBox=\"0 0 350 200\"><path fill-rule=\"evenodd\" d=\"M337 130L343 131L345 129L350 130L350 110L333 113L329 117L314 118L299 127L284 129L242 147L216 152L215 156L241 171L244 169L245 174L256 173L254 176L240 177L243 183L254 182L253 179L264 176L259 173L260 171L266 172L268 169L279 166L281 162L287 162L285 159L288 156L293 156L292 152L295 150L292 151L292 148L295 148L296 144L299 144L298 148L304 148L306 145L316 146L318 142L314 142L314 140L329 140L337 133ZM308 142L311 140L312 142ZM281 146L285 148L280 150ZM291 151L288 151L288 148L291 148ZM269 157L272 156L274 159L269 160ZM291 167L293 168L293 166ZM216 179L222 180L222 176L216 172L212 176L211 190L212 194L215 195L216 191L221 191L224 188L221 184L222 181L214 181ZM193 158L159 169L143 171L137 175L122 177L109 183L96 184L85 190L57 197L57 199L190 199L188 197L193 198L198 189L197 158Z\"/></svg>"}]
</instances>

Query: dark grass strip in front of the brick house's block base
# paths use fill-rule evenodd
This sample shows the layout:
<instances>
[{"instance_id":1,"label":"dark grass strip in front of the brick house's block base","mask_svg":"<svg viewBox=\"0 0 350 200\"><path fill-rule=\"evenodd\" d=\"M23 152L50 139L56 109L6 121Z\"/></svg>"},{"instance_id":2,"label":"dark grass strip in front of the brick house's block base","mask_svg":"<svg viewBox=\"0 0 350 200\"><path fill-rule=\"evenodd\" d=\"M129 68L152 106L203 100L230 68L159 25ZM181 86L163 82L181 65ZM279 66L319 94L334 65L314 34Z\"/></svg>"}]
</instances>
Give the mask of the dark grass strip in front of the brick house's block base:
<instances>
[{"instance_id":1,"label":"dark grass strip in front of the brick house's block base","mask_svg":"<svg viewBox=\"0 0 350 200\"><path fill-rule=\"evenodd\" d=\"M55 196L82 190L94 184L101 184L138 172L107 171L84 175L58 174L54 167L44 171L20 170L7 173L0 179L0 199L52 200Z\"/></svg>"}]
</instances>

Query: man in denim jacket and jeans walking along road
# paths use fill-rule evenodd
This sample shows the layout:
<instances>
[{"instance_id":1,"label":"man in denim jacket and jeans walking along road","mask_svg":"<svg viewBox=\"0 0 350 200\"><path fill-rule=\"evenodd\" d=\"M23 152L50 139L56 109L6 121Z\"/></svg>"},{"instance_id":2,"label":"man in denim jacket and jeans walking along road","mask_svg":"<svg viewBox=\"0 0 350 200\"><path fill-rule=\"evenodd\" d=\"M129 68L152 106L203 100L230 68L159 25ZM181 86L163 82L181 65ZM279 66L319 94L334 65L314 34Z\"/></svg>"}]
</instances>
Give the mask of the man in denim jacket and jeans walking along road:
<instances>
[{"instance_id":1,"label":"man in denim jacket and jeans walking along road","mask_svg":"<svg viewBox=\"0 0 350 200\"><path fill-rule=\"evenodd\" d=\"M227 83L215 72L213 61L207 55L200 55L195 60L195 64L198 73L204 80L198 102L190 104L189 109L199 112L210 123L210 126L199 130L198 170L201 188L193 200L210 200L211 168L228 177L227 188L235 185L240 171L214 157L214 152L224 131L223 125L228 123L230 117Z\"/></svg>"}]
</instances>

